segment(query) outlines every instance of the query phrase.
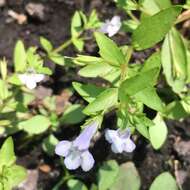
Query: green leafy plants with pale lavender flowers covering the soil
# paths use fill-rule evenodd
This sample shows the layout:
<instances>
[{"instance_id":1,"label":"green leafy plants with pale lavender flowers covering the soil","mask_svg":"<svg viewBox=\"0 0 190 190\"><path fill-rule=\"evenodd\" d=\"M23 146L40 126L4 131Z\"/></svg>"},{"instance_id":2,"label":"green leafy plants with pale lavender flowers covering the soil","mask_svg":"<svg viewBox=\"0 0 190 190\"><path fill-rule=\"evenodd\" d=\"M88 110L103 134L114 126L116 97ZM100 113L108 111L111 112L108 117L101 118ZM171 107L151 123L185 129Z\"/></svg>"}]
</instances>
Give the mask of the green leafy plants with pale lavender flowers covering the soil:
<instances>
[{"instance_id":1,"label":"green leafy plants with pale lavender flowers covering the soil","mask_svg":"<svg viewBox=\"0 0 190 190\"><path fill-rule=\"evenodd\" d=\"M138 139L133 141L133 134L142 135L154 149L160 149L168 133L164 119L182 120L189 116L189 41L176 26L190 18L189 13L185 14L190 2L173 5L170 0L115 0L115 3L126 13L126 20L116 15L100 22L95 10L89 16L76 11L71 20L71 38L59 47L55 48L48 39L41 37L42 53L38 47L26 49L19 40L14 51L14 72L8 72L6 60L1 60L2 136L19 131L24 131L30 141L41 136L43 149L49 156L54 155L56 148L56 153L65 157L61 164L69 170L81 166L84 171L89 171L95 160L88 148L102 127L106 114L115 112L117 117L115 129L105 132L106 140L115 153L134 151ZM134 11L138 11L140 16L136 17ZM121 35L124 32L130 34L130 44L120 46L110 38L119 35L119 31L122 31ZM99 56L82 53L88 43L89 32L92 34L90 39L95 39L99 48ZM76 57L64 55L64 49L71 44L78 50ZM151 49L152 54L145 60L132 59L134 52L146 49ZM67 71L77 69L81 77L92 81L101 78L104 82L102 86L72 82L71 88L86 101L86 106L70 103L60 114L56 112L55 96L52 95L43 99L41 105L31 108L35 100L33 89L53 73L44 64L47 60L65 67ZM153 119L147 115L145 107L154 111ZM55 132L61 126L82 122L84 130L74 141L64 139L59 142L56 138ZM19 175L12 175L13 171ZM13 142L8 138L0 151L0 187L11 189L25 175L25 170L15 165ZM65 182L69 189L87 189L85 184L74 178L64 168L64 176L54 190ZM91 190L123 189L121 184L125 184L125 190L140 189L140 178L134 166L131 163L119 166L114 160L100 166L96 182L91 185ZM150 190L158 189L177 190L178 187L174 178L164 172L150 187Z\"/></svg>"}]
</instances>

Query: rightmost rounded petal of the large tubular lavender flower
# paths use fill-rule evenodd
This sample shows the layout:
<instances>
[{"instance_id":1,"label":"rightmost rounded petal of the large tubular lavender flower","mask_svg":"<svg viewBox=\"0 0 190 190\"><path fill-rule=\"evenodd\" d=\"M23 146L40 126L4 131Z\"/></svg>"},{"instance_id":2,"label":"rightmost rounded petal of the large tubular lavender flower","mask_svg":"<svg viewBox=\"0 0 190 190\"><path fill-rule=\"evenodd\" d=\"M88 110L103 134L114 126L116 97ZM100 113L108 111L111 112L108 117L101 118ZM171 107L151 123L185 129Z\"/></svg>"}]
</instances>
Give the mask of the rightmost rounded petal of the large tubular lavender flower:
<instances>
[{"instance_id":1,"label":"rightmost rounded petal of the large tubular lavender flower","mask_svg":"<svg viewBox=\"0 0 190 190\"><path fill-rule=\"evenodd\" d=\"M87 172L94 166L94 158L89 151L85 151L81 154L82 163L81 168L83 171Z\"/></svg>"}]
</instances>

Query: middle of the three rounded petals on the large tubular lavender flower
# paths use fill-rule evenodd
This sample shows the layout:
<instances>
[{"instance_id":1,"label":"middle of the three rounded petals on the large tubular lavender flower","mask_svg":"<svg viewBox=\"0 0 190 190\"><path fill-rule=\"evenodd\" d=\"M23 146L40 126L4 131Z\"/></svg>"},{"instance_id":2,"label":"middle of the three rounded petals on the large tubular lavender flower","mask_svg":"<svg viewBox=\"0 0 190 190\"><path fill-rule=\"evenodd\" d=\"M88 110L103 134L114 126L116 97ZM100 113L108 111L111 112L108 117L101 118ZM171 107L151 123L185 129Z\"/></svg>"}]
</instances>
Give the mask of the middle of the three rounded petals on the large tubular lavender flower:
<instances>
[{"instance_id":1,"label":"middle of the three rounded petals on the large tubular lavender flower","mask_svg":"<svg viewBox=\"0 0 190 190\"><path fill-rule=\"evenodd\" d=\"M69 170L76 170L81 165L80 153L72 152L65 157L64 164Z\"/></svg>"}]
</instances>

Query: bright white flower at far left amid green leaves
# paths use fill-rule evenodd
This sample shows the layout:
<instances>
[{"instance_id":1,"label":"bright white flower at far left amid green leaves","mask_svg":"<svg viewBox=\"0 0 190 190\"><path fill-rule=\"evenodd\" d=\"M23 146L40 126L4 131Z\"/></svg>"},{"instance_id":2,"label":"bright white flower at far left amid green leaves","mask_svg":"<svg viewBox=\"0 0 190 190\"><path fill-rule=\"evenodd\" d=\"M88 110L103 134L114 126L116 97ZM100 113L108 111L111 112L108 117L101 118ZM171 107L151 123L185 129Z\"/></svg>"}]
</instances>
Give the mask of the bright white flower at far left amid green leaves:
<instances>
[{"instance_id":1,"label":"bright white flower at far left amid green leaves","mask_svg":"<svg viewBox=\"0 0 190 190\"><path fill-rule=\"evenodd\" d=\"M36 88L38 82L41 82L45 78L45 75L37 74L33 69L30 69L24 74L19 74L18 78L27 88L32 90Z\"/></svg>"}]
</instances>

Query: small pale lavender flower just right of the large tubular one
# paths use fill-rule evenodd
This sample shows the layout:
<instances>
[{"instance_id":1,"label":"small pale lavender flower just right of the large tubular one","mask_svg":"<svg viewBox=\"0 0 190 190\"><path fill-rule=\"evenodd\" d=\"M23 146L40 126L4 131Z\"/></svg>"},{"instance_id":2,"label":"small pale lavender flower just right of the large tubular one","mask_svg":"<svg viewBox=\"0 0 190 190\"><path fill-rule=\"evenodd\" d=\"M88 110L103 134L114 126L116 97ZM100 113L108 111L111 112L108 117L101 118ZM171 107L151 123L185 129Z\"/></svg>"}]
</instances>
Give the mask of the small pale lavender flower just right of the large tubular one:
<instances>
[{"instance_id":1,"label":"small pale lavender flower just right of the large tubular one","mask_svg":"<svg viewBox=\"0 0 190 190\"><path fill-rule=\"evenodd\" d=\"M129 129L121 131L108 129L105 134L106 140L111 144L114 153L133 152L136 145L130 139L131 133Z\"/></svg>"}]
</instances>

